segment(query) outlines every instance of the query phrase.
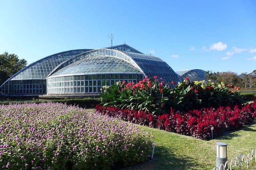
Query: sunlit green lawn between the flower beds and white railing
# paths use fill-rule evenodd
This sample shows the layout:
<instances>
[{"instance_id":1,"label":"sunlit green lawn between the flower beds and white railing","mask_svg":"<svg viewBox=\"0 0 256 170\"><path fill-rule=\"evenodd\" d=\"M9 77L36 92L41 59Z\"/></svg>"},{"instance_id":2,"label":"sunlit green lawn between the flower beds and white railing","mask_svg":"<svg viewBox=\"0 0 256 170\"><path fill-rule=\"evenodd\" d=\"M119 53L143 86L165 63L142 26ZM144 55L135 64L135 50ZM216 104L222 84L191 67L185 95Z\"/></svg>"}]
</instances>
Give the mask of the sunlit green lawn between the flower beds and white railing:
<instances>
[{"instance_id":1,"label":"sunlit green lawn between the flower beds and white railing","mask_svg":"<svg viewBox=\"0 0 256 170\"><path fill-rule=\"evenodd\" d=\"M157 143L154 154L156 160L125 169L213 169L216 160L216 143L219 141L228 143L229 160L240 153L247 155L256 148L256 124L225 133L222 137L210 141L145 126L140 127L153 131ZM255 168L255 159L254 163L251 162L251 166Z\"/></svg>"}]
</instances>

